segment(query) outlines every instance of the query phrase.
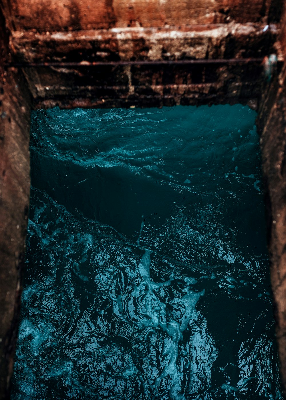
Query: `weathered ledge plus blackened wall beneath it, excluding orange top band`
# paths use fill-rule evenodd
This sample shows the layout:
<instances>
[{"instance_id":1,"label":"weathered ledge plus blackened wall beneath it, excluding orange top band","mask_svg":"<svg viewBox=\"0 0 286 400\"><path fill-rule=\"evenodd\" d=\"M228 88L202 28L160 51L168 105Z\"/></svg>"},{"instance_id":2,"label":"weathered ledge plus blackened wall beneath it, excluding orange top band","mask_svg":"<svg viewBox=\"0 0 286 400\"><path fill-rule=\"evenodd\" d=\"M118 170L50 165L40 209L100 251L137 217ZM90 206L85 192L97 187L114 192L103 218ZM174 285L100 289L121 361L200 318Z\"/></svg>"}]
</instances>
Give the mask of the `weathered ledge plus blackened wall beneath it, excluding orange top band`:
<instances>
[{"instance_id":1,"label":"weathered ledge plus blackened wall beneath it, excluding orange top band","mask_svg":"<svg viewBox=\"0 0 286 400\"><path fill-rule=\"evenodd\" d=\"M219 104L260 97L260 62L276 52L278 28L225 24L192 28L112 28L110 30L14 32L11 62L62 62L23 68L35 107L129 107ZM228 63L239 59L241 63ZM201 60L162 65L161 61ZM205 60L205 61L204 61ZM212 64L212 60L226 60ZM66 66L68 62L82 62ZM120 62L133 62L120 65ZM137 61L146 62L138 65ZM149 65L148 62L158 62ZM106 63L88 66L86 62ZM118 65L109 65L118 62Z\"/></svg>"}]
</instances>

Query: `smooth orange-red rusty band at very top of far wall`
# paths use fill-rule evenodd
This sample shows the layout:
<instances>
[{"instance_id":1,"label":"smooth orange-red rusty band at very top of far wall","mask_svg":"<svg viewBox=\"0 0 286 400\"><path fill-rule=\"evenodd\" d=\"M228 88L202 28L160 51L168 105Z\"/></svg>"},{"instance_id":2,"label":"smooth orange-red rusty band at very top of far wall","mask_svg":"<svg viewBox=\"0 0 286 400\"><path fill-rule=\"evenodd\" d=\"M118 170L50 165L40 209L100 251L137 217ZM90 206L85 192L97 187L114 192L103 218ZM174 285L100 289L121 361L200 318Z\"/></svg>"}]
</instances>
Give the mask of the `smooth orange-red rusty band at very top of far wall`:
<instances>
[{"instance_id":1,"label":"smooth orange-red rusty band at very top of far wall","mask_svg":"<svg viewBox=\"0 0 286 400\"><path fill-rule=\"evenodd\" d=\"M275 21L280 0L5 0L16 30ZM7 7L8 8L8 7Z\"/></svg>"}]
</instances>

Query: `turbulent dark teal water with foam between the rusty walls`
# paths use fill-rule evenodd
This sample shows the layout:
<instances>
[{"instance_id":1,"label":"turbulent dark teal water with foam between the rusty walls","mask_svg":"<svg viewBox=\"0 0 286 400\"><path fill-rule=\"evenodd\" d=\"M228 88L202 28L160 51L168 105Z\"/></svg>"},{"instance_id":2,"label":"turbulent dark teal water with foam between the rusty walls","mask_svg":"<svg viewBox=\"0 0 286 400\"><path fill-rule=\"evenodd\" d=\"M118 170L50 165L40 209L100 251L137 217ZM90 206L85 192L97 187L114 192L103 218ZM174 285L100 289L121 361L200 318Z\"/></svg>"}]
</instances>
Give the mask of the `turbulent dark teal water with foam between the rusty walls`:
<instances>
[{"instance_id":1,"label":"turbulent dark teal water with foam between the rusty walls","mask_svg":"<svg viewBox=\"0 0 286 400\"><path fill-rule=\"evenodd\" d=\"M282 398L255 116L32 114L14 400Z\"/></svg>"}]
</instances>

